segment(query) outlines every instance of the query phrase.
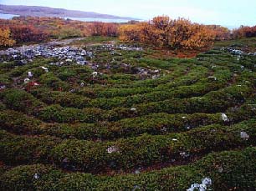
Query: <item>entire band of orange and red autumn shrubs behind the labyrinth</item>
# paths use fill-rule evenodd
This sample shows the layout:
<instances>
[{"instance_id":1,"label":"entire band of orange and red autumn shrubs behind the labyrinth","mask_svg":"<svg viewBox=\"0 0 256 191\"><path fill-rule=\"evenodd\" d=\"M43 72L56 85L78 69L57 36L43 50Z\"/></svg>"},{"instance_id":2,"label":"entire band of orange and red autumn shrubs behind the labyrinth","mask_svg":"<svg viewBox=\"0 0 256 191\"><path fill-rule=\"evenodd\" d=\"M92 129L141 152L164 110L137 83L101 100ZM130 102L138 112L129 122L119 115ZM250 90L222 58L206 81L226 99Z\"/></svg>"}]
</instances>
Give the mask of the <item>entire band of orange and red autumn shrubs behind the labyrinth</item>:
<instances>
[{"instance_id":1,"label":"entire band of orange and red autumn shrubs behind the labyrinth","mask_svg":"<svg viewBox=\"0 0 256 191\"><path fill-rule=\"evenodd\" d=\"M0 19L0 46L13 43L41 43L49 39L88 36L119 37L128 43L141 43L158 48L208 48L214 41L256 37L256 26L233 30L219 25L192 23L185 18L161 16L149 22L127 24L82 22L64 18L14 17Z\"/></svg>"}]
</instances>

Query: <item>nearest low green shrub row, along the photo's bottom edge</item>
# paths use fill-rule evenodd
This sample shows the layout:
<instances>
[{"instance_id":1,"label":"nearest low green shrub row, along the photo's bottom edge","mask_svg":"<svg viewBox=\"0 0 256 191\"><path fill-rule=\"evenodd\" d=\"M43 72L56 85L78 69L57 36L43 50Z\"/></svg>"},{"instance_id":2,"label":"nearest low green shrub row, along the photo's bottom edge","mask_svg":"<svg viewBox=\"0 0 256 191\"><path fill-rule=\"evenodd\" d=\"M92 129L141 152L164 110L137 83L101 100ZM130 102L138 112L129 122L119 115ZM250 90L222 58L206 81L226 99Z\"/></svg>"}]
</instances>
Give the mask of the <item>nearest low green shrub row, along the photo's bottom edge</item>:
<instances>
[{"instance_id":1,"label":"nearest low green shrub row, along the photo's bottom edge","mask_svg":"<svg viewBox=\"0 0 256 191\"><path fill-rule=\"evenodd\" d=\"M210 178L214 190L253 190L256 148L211 153L195 163L140 174L95 176L64 173L43 164L11 168L0 175L3 190L185 190ZM38 178L34 178L35 174ZM208 187L209 188L209 187Z\"/></svg>"}]
</instances>

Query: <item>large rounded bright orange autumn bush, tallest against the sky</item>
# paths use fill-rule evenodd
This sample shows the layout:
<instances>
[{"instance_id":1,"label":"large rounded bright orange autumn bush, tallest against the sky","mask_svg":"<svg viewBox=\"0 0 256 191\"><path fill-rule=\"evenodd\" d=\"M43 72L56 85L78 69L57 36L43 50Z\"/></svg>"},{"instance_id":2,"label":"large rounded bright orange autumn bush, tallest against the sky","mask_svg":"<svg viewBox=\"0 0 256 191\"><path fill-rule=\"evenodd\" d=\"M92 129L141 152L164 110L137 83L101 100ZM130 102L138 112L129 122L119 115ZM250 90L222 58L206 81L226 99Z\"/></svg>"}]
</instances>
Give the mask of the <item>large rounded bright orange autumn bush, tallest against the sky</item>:
<instances>
[{"instance_id":1,"label":"large rounded bright orange autumn bush, tallest against the sky","mask_svg":"<svg viewBox=\"0 0 256 191\"><path fill-rule=\"evenodd\" d=\"M149 22L120 27L120 40L151 44L160 48L207 48L212 45L216 33L205 25L191 23L185 18L166 16Z\"/></svg>"}]
</instances>

